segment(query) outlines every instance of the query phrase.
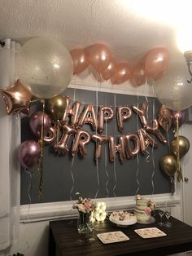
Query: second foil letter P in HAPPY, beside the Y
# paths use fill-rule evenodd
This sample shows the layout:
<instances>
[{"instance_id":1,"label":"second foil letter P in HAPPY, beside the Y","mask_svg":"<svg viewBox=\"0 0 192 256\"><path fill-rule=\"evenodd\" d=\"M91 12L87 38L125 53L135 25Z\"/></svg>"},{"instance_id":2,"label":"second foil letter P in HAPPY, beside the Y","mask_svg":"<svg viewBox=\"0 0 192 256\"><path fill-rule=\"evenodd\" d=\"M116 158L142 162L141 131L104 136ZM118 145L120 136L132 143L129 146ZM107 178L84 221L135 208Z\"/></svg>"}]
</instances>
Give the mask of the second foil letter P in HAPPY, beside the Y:
<instances>
[{"instance_id":1,"label":"second foil letter P in HAPPY, beside the Y","mask_svg":"<svg viewBox=\"0 0 192 256\"><path fill-rule=\"evenodd\" d=\"M116 109L116 121L118 130L122 132L124 130L124 121L132 117L132 110L127 105L120 105Z\"/></svg>"}]
</instances>

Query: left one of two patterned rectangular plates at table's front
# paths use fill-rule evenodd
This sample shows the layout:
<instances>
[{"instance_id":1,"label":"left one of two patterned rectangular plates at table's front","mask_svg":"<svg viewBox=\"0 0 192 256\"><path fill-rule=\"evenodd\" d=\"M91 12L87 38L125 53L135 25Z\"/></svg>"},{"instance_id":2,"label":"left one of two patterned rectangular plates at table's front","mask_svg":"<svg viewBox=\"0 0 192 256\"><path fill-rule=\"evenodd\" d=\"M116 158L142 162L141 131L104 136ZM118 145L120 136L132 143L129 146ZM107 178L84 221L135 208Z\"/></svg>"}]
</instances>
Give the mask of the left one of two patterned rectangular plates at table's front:
<instances>
[{"instance_id":1,"label":"left one of two patterned rectangular plates at table's front","mask_svg":"<svg viewBox=\"0 0 192 256\"><path fill-rule=\"evenodd\" d=\"M103 242L103 244L111 244L129 240L129 237L124 235L124 233L121 231L101 233L98 234L97 236L100 239L100 241Z\"/></svg>"}]
</instances>

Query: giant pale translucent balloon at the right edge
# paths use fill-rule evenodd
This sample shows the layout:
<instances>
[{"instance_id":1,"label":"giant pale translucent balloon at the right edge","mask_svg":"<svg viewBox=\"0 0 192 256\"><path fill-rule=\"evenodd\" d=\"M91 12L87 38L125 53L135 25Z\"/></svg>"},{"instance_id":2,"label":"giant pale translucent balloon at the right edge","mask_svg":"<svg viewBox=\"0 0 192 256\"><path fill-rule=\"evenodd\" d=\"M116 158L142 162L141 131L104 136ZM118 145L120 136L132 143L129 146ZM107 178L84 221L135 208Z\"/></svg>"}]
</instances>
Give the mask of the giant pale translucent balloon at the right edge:
<instances>
[{"instance_id":1,"label":"giant pale translucent balloon at the right edge","mask_svg":"<svg viewBox=\"0 0 192 256\"><path fill-rule=\"evenodd\" d=\"M192 105L192 84L185 60L173 64L163 78L155 82L155 92L160 103L172 110L181 111Z\"/></svg>"}]
</instances>

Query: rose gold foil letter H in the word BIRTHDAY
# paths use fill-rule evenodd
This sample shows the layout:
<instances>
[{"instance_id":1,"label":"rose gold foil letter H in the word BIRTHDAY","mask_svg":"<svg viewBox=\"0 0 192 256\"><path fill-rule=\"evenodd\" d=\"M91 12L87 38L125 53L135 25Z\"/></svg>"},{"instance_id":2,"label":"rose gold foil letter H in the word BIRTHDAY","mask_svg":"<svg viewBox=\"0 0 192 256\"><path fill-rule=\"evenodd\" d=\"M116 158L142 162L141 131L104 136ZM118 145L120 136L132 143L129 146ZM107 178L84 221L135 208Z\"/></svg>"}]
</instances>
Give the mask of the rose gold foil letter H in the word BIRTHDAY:
<instances>
[{"instance_id":1,"label":"rose gold foil letter H in the word BIRTHDAY","mask_svg":"<svg viewBox=\"0 0 192 256\"><path fill-rule=\"evenodd\" d=\"M115 138L112 136L109 136L109 160L110 161L115 160L116 152L119 152L120 161L123 163L126 160L124 136L120 136L119 143L117 145L115 142Z\"/></svg>"}]
</instances>

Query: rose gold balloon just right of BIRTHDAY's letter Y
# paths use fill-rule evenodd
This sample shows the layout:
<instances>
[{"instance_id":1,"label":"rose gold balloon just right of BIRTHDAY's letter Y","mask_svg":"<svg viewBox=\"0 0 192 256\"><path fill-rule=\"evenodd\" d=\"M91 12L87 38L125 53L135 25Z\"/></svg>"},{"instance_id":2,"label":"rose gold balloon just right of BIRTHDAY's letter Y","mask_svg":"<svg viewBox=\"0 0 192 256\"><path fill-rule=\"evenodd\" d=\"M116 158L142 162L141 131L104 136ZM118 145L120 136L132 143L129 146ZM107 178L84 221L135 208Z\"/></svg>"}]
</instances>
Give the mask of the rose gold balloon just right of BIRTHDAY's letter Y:
<instances>
[{"instance_id":1,"label":"rose gold balloon just right of BIRTHDAY's letter Y","mask_svg":"<svg viewBox=\"0 0 192 256\"><path fill-rule=\"evenodd\" d=\"M172 113L164 105L159 110L159 125L166 131L172 126Z\"/></svg>"}]
</instances>

